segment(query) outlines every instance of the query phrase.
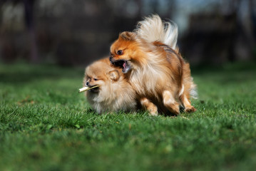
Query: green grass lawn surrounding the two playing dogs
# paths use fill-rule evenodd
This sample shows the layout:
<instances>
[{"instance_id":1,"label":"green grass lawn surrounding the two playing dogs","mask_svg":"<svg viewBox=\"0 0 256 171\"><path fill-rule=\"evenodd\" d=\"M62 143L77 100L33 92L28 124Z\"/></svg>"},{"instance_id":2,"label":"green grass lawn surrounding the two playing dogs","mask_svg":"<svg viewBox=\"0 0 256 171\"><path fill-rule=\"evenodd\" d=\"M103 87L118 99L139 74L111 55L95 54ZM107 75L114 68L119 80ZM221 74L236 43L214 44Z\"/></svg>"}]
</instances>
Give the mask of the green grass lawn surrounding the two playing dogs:
<instances>
[{"instance_id":1,"label":"green grass lawn surrounding the two playing dogs","mask_svg":"<svg viewBox=\"0 0 256 171\"><path fill-rule=\"evenodd\" d=\"M193 77L193 114L97 115L83 69L1 64L0 170L255 170L256 65Z\"/></svg>"}]
</instances>

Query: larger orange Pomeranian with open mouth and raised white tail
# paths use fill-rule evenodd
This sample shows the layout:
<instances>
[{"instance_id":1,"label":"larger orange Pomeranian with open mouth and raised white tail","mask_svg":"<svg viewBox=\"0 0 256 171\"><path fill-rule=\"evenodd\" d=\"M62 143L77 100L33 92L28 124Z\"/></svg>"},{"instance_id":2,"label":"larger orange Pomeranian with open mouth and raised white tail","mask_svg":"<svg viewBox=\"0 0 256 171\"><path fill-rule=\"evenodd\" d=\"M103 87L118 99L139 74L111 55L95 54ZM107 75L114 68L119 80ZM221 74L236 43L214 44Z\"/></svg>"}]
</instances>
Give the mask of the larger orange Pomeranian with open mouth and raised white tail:
<instances>
[{"instance_id":1,"label":"larger orange Pomeranian with open mouth and raised white tail","mask_svg":"<svg viewBox=\"0 0 256 171\"><path fill-rule=\"evenodd\" d=\"M154 103L174 115L180 113L180 105L185 112L196 110L190 102L196 86L189 63L176 47L177 38L176 24L163 22L158 15L149 16L138 22L133 32L119 34L109 58L122 69L141 104Z\"/></svg>"}]
</instances>

